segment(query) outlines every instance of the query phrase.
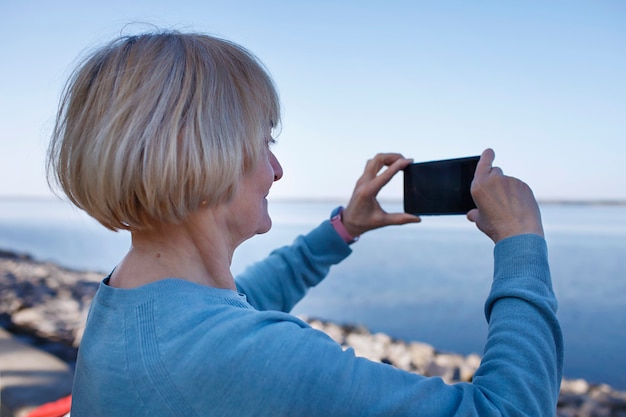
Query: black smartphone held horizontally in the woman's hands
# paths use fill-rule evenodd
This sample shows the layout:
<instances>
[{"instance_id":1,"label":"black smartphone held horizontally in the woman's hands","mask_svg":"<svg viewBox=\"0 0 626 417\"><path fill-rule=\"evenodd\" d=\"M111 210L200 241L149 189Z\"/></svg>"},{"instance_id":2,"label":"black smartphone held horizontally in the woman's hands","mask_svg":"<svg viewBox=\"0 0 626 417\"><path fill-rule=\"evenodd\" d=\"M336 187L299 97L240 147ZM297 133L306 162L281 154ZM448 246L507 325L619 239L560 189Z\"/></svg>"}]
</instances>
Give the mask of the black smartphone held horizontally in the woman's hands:
<instances>
[{"instance_id":1,"label":"black smartphone held horizontally in the woman's hands","mask_svg":"<svg viewBox=\"0 0 626 417\"><path fill-rule=\"evenodd\" d=\"M404 211L416 215L466 214L479 156L411 164L404 169Z\"/></svg>"}]
</instances>

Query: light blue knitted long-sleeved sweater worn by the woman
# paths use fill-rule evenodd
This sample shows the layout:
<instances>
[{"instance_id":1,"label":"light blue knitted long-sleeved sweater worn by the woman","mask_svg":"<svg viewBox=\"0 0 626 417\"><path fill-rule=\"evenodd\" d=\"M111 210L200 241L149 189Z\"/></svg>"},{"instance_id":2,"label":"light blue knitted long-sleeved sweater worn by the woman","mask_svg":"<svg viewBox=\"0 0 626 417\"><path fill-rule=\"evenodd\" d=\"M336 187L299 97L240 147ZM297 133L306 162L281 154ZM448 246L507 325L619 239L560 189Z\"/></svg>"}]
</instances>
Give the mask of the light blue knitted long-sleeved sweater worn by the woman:
<instances>
[{"instance_id":1,"label":"light blue knitted long-sleeved sweater worn by the woman","mask_svg":"<svg viewBox=\"0 0 626 417\"><path fill-rule=\"evenodd\" d=\"M542 238L496 245L484 358L473 383L455 385L356 357L278 311L349 253L324 222L238 277L241 294L181 279L130 290L105 280L80 346L72 417L555 414L562 338Z\"/></svg>"}]
</instances>

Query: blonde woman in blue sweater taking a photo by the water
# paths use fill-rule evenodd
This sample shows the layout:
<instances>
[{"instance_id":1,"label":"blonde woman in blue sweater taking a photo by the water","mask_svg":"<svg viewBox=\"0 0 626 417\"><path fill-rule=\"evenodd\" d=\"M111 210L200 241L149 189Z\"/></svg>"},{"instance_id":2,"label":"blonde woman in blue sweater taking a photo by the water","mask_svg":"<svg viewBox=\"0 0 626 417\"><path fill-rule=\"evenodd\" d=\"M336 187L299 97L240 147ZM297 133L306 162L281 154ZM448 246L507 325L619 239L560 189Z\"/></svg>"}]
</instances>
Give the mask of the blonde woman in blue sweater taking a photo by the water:
<instances>
[{"instance_id":1,"label":"blonde woman in blue sweater taking a photo by the water","mask_svg":"<svg viewBox=\"0 0 626 417\"><path fill-rule=\"evenodd\" d=\"M71 78L49 175L105 227L132 235L83 336L72 416L553 414L562 347L537 204L478 164L468 213L497 244L490 333L472 384L355 357L288 314L363 233L418 222L380 189L410 160L370 160L345 210L235 280L233 251L270 229L278 95L233 43L161 32L117 39ZM381 169L386 167L381 172Z\"/></svg>"}]
</instances>

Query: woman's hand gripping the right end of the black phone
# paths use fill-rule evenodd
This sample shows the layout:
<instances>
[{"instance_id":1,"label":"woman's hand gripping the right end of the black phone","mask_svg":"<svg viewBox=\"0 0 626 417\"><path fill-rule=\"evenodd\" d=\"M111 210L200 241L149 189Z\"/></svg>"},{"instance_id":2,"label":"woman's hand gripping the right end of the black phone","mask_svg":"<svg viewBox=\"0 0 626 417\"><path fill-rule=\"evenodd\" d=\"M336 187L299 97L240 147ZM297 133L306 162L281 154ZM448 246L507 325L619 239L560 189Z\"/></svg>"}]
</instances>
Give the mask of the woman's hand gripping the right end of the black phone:
<instances>
[{"instance_id":1,"label":"woman's hand gripping the right end of the black phone","mask_svg":"<svg viewBox=\"0 0 626 417\"><path fill-rule=\"evenodd\" d=\"M467 218L494 243L528 233L543 237L541 214L532 190L493 167L494 159L493 150L486 149L478 161L471 188L477 208L470 210Z\"/></svg>"}]
</instances>

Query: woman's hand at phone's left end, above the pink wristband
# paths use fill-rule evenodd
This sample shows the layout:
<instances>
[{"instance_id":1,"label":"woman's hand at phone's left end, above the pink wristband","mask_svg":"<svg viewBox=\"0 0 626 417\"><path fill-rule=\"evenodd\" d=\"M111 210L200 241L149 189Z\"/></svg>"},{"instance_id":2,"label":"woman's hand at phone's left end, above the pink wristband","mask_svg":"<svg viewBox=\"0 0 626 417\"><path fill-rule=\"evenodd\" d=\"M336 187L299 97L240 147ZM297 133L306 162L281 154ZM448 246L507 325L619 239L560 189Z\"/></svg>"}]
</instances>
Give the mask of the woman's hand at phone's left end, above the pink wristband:
<instances>
[{"instance_id":1,"label":"woman's hand at phone's left end, above the pink wristband","mask_svg":"<svg viewBox=\"0 0 626 417\"><path fill-rule=\"evenodd\" d=\"M360 236L379 227L420 221L418 216L412 214L387 213L376 199L391 178L411 162L411 159L396 153L380 153L367 161L365 171L356 182L350 202L343 212L342 222L348 233ZM387 169L380 172L383 167Z\"/></svg>"}]
</instances>

